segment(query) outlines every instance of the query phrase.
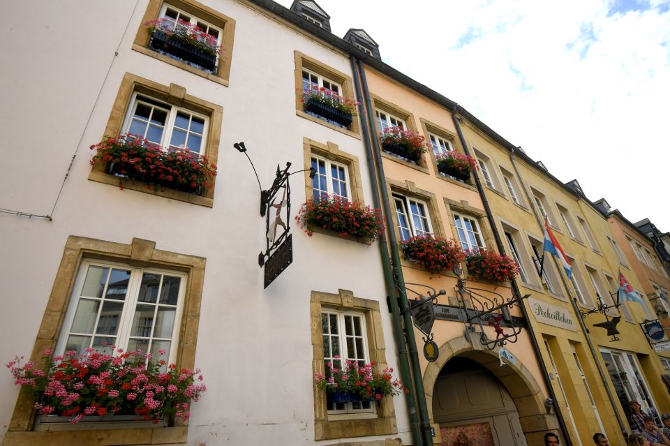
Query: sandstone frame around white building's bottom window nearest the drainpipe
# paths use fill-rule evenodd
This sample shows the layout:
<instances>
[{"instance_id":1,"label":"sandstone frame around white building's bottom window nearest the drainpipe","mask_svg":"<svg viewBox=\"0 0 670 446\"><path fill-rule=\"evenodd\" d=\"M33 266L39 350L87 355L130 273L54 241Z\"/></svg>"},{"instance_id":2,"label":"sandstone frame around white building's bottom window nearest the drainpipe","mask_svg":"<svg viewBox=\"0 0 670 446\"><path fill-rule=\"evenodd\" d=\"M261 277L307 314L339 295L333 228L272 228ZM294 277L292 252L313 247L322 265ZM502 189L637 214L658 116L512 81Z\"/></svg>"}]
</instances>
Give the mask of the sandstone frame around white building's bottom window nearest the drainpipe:
<instances>
[{"instance_id":1,"label":"sandstone frame around white building's bottom window nearest the drainpipe","mask_svg":"<svg viewBox=\"0 0 670 446\"><path fill-rule=\"evenodd\" d=\"M365 318L368 350L371 362L378 370L385 369L386 343L382 329L382 313L376 300L355 297L349 290L338 290L337 294L312 291L310 298L310 327L313 350L312 376L325 373L323 364L323 334L321 329L322 308L340 311L357 311ZM326 392L313 383L314 392L314 440L332 440L334 438L352 438L364 436L390 435L398 433L393 397L385 396L377 408L374 418L329 420L326 404Z\"/></svg>"}]
</instances>

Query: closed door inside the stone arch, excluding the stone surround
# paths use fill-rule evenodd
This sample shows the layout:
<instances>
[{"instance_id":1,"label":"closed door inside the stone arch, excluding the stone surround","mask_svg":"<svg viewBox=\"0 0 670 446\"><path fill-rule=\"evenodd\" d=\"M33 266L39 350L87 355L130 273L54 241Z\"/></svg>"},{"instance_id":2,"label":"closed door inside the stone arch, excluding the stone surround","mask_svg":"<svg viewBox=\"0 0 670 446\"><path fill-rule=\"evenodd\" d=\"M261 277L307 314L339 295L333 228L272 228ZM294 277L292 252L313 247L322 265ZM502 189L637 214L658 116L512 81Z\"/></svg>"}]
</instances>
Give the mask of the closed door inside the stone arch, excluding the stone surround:
<instances>
[{"instance_id":1,"label":"closed door inside the stone arch, excluding the stone surround","mask_svg":"<svg viewBox=\"0 0 670 446\"><path fill-rule=\"evenodd\" d=\"M449 360L435 381L433 421L445 446L527 446L512 396L466 357Z\"/></svg>"}]
</instances>

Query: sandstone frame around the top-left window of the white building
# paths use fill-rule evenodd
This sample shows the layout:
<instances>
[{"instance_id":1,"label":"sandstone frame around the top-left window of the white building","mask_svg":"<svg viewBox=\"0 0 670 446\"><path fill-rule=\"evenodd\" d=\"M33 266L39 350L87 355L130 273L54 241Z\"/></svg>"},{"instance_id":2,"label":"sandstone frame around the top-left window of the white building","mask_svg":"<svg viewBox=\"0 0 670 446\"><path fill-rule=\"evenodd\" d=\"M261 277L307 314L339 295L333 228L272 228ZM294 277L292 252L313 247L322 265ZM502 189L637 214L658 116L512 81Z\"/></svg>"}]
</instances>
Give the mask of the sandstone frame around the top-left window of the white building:
<instances>
[{"instance_id":1,"label":"sandstone frame around the top-left window of the white building","mask_svg":"<svg viewBox=\"0 0 670 446\"><path fill-rule=\"evenodd\" d=\"M165 54L160 54L149 48L149 39L151 36L149 34L149 29L144 26L144 23L149 22L149 20L157 19L161 13L161 8L163 8L163 4L165 3L170 6L174 6L174 8L184 10L184 12L191 14L194 17L198 17L204 22L209 22L217 28L223 29L223 32L221 33L221 46L223 47L223 54L219 55L218 57L218 73L205 73L199 68L190 66L185 62L177 61L171 57L165 56ZM217 10L209 8L209 6L204 6L198 1L149 0L147 10L144 11L142 22L140 22L140 28L137 29L137 34L135 35L135 40L133 41L133 50L228 87L228 83L230 81L230 63L232 61L234 36L235 21L231 17L228 17L228 15L223 15Z\"/></svg>"}]
</instances>

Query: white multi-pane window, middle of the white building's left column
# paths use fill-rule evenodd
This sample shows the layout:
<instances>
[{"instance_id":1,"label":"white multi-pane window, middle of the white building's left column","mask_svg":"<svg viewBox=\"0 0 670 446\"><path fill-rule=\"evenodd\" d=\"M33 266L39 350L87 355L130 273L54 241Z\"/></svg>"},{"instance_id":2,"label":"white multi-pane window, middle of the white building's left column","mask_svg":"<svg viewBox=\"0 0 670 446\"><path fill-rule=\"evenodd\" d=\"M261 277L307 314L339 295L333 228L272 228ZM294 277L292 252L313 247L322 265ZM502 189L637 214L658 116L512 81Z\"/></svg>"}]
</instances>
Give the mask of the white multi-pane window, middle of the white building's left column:
<instances>
[{"instance_id":1,"label":"white multi-pane window, middle of the white building's left column","mask_svg":"<svg viewBox=\"0 0 670 446\"><path fill-rule=\"evenodd\" d=\"M204 154L207 117L141 94L133 94L123 133L138 135L168 150Z\"/></svg>"}]
</instances>

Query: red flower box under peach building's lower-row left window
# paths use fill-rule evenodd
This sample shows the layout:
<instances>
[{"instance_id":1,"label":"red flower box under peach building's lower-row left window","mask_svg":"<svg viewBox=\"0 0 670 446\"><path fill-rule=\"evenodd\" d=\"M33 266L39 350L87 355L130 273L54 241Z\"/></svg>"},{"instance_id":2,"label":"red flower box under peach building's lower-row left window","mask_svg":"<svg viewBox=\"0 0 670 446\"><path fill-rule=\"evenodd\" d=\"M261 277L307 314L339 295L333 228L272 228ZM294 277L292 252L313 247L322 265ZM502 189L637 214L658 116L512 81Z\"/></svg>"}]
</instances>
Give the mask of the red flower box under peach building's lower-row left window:
<instances>
[{"instance_id":1,"label":"red flower box under peach building's lower-row left window","mask_svg":"<svg viewBox=\"0 0 670 446\"><path fill-rule=\"evenodd\" d=\"M459 243L439 237L412 237L402 241L401 248L405 259L438 274L453 269L466 258Z\"/></svg>"}]
</instances>

